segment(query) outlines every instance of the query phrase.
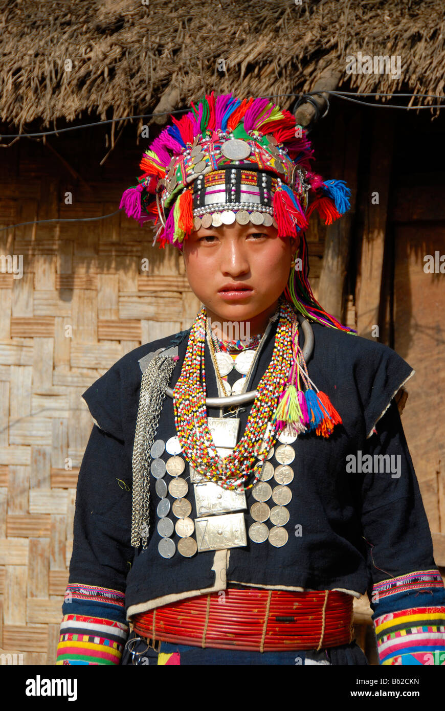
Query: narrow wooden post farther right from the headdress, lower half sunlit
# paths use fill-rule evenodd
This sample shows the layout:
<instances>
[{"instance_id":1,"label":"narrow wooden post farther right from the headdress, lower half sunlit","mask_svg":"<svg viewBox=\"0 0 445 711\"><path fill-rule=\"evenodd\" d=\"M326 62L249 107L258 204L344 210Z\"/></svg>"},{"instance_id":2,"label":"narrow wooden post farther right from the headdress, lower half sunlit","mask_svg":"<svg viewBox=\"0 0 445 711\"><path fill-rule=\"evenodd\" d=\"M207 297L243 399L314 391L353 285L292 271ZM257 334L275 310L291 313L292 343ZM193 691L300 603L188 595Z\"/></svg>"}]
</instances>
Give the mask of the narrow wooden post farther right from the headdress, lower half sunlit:
<instances>
[{"instance_id":1,"label":"narrow wooden post farther right from the headdress, lower half sunlit","mask_svg":"<svg viewBox=\"0 0 445 711\"><path fill-rule=\"evenodd\" d=\"M392 136L392 112L382 111L378 117L375 116L372 127L370 176L364 200L365 225L355 292L357 331L359 336L365 336L365 338L371 338L372 326L379 325L380 290L392 164ZM378 203L373 204L372 199L378 200Z\"/></svg>"}]
</instances>

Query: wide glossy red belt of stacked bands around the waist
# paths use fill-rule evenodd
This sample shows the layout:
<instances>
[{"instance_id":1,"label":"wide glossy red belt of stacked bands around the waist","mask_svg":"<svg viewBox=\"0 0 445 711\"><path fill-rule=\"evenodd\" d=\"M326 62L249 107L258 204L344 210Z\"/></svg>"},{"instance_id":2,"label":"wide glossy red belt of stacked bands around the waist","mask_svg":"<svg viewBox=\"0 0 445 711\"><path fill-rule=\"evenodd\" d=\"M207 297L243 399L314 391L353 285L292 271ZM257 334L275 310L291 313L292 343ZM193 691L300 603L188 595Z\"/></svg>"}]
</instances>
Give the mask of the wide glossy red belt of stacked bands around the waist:
<instances>
[{"instance_id":1,"label":"wide glossy red belt of stacked bands around the waist","mask_svg":"<svg viewBox=\"0 0 445 711\"><path fill-rule=\"evenodd\" d=\"M321 649L353 641L353 597L230 588L141 612L132 623L151 641L257 652Z\"/></svg>"}]
</instances>

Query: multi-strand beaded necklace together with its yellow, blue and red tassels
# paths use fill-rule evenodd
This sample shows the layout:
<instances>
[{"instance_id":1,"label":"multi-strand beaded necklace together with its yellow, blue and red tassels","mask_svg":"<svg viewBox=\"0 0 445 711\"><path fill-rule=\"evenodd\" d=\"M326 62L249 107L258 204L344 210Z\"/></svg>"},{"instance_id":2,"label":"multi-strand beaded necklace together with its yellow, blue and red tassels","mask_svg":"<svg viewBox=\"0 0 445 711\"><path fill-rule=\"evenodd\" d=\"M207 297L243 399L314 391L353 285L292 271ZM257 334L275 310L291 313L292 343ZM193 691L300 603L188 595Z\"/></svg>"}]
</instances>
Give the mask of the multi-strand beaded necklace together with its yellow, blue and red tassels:
<instances>
[{"instance_id":1,"label":"multi-strand beaded necklace together with its yellow, blue and red tassels","mask_svg":"<svg viewBox=\"0 0 445 711\"><path fill-rule=\"evenodd\" d=\"M294 433L315 429L316 434L328 437L341 417L324 393L311 389L298 343L296 313L282 300L272 359L257 386L245 434L231 454L218 456L205 410L205 323L203 307L191 328L181 375L173 389L176 431L186 459L199 474L223 488L246 491L261 473L256 460L266 459L282 429ZM300 390L300 375L305 392ZM245 486L252 474L253 481Z\"/></svg>"}]
</instances>

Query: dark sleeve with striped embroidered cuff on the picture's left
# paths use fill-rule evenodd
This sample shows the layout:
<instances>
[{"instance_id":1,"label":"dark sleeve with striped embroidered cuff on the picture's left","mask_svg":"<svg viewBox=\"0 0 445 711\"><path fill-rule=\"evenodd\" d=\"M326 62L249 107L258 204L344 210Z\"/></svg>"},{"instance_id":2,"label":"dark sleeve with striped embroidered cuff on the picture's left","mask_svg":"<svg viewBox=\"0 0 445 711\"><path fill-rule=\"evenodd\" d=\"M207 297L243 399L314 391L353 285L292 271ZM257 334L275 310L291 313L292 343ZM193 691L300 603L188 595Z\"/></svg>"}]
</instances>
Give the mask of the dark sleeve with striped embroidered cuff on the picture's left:
<instances>
[{"instance_id":1,"label":"dark sleeve with striped embroidered cuff on the picture's left","mask_svg":"<svg viewBox=\"0 0 445 711\"><path fill-rule=\"evenodd\" d=\"M73 555L56 664L119 664L125 612L132 469L124 442L95 425L80 466Z\"/></svg>"}]
</instances>

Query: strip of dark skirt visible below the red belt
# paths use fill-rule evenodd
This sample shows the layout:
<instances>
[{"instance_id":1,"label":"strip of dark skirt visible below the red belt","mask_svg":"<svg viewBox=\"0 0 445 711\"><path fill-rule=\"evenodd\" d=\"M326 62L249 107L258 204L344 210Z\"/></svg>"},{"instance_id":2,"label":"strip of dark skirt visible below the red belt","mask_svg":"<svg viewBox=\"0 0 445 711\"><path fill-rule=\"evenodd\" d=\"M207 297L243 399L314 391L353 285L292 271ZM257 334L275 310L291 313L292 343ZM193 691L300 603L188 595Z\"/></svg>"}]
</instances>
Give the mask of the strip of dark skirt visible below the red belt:
<instances>
[{"instance_id":1,"label":"strip of dark skirt visible below the red belt","mask_svg":"<svg viewBox=\"0 0 445 711\"><path fill-rule=\"evenodd\" d=\"M137 641L132 641L137 640ZM134 631L129 634L122 664L151 665L368 665L356 642L320 651L247 652L236 649L190 647L170 642L156 643L156 651Z\"/></svg>"}]
</instances>

